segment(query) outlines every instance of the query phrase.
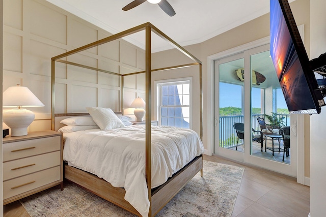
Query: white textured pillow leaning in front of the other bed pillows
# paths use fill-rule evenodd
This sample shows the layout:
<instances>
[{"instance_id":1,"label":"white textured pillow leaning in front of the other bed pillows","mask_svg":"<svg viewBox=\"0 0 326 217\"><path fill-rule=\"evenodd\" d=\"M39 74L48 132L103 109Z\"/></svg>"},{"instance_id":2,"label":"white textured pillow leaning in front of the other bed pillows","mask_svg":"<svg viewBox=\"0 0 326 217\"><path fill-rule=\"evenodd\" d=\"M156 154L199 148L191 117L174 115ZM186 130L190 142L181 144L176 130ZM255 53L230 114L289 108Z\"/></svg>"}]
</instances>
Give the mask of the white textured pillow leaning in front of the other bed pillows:
<instances>
[{"instance_id":1,"label":"white textured pillow leaning in front of the other bed pillows","mask_svg":"<svg viewBox=\"0 0 326 217\"><path fill-rule=\"evenodd\" d=\"M125 127L123 122L110 108L86 107L86 109L101 130Z\"/></svg>"}]
</instances>

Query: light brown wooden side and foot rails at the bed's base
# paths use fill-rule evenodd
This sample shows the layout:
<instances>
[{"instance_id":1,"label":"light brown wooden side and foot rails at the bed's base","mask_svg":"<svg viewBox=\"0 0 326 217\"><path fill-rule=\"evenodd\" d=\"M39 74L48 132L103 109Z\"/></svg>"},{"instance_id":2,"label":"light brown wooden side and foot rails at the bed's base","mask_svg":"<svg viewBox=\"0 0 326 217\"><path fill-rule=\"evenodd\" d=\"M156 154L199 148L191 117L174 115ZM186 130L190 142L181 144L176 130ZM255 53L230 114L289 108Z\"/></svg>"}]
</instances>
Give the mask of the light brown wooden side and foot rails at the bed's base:
<instances>
[{"instance_id":1,"label":"light brown wooden side and foot rails at the bed's base","mask_svg":"<svg viewBox=\"0 0 326 217\"><path fill-rule=\"evenodd\" d=\"M184 168L179 170L167 182L152 190L152 216L163 208L183 187L191 180L199 171L203 175L203 157L196 157L192 162L188 163ZM98 176L77 169L75 167L65 165L65 178L72 181L80 187L92 192L93 194L110 201L121 208L132 212L138 216L140 213L124 199L125 190L123 188L115 188L110 183Z\"/></svg>"}]
</instances>

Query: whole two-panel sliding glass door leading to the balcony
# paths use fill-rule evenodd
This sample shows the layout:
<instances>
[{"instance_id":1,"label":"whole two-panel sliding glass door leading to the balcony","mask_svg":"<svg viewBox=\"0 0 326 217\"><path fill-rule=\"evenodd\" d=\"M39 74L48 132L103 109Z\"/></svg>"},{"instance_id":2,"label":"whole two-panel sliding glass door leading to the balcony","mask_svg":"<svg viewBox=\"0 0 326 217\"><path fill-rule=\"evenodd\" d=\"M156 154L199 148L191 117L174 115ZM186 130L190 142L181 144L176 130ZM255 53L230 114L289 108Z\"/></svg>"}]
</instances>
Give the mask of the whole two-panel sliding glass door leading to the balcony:
<instances>
[{"instance_id":1,"label":"whole two-panel sliding glass door leading to the balcony","mask_svg":"<svg viewBox=\"0 0 326 217\"><path fill-rule=\"evenodd\" d=\"M295 175L296 147L291 146L283 161L279 129L290 126L290 115L268 49L263 45L215 60L214 152ZM259 125L259 118L273 125L273 136Z\"/></svg>"}]
</instances>

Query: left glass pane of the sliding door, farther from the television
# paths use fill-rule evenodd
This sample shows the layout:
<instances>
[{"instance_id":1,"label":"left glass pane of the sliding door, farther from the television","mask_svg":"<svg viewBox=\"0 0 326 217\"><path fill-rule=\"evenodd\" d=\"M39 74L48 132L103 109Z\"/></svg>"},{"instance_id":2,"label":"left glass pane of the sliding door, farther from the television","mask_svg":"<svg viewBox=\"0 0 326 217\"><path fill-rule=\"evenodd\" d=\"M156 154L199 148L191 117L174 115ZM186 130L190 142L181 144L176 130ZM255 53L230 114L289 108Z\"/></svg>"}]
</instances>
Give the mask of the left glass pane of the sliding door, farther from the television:
<instances>
[{"instance_id":1,"label":"left glass pane of the sliding door, farther from the television","mask_svg":"<svg viewBox=\"0 0 326 217\"><path fill-rule=\"evenodd\" d=\"M219 148L240 152L244 150L244 129L234 123L243 123L243 65L239 58L218 66Z\"/></svg>"}]
</instances>

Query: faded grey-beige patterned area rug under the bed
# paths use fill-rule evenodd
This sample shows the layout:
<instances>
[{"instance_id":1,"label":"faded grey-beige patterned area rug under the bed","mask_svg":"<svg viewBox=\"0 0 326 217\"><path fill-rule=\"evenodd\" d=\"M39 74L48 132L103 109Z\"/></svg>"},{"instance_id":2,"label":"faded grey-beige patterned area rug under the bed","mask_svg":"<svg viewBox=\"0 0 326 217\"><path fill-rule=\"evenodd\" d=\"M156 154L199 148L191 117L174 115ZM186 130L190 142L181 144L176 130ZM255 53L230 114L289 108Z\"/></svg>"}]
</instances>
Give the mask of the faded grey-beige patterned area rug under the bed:
<instances>
[{"instance_id":1,"label":"faded grey-beige patterned area rug under the bed","mask_svg":"<svg viewBox=\"0 0 326 217\"><path fill-rule=\"evenodd\" d=\"M210 161L156 216L231 216L244 168ZM20 200L32 216L135 216L73 183Z\"/></svg>"}]
</instances>

